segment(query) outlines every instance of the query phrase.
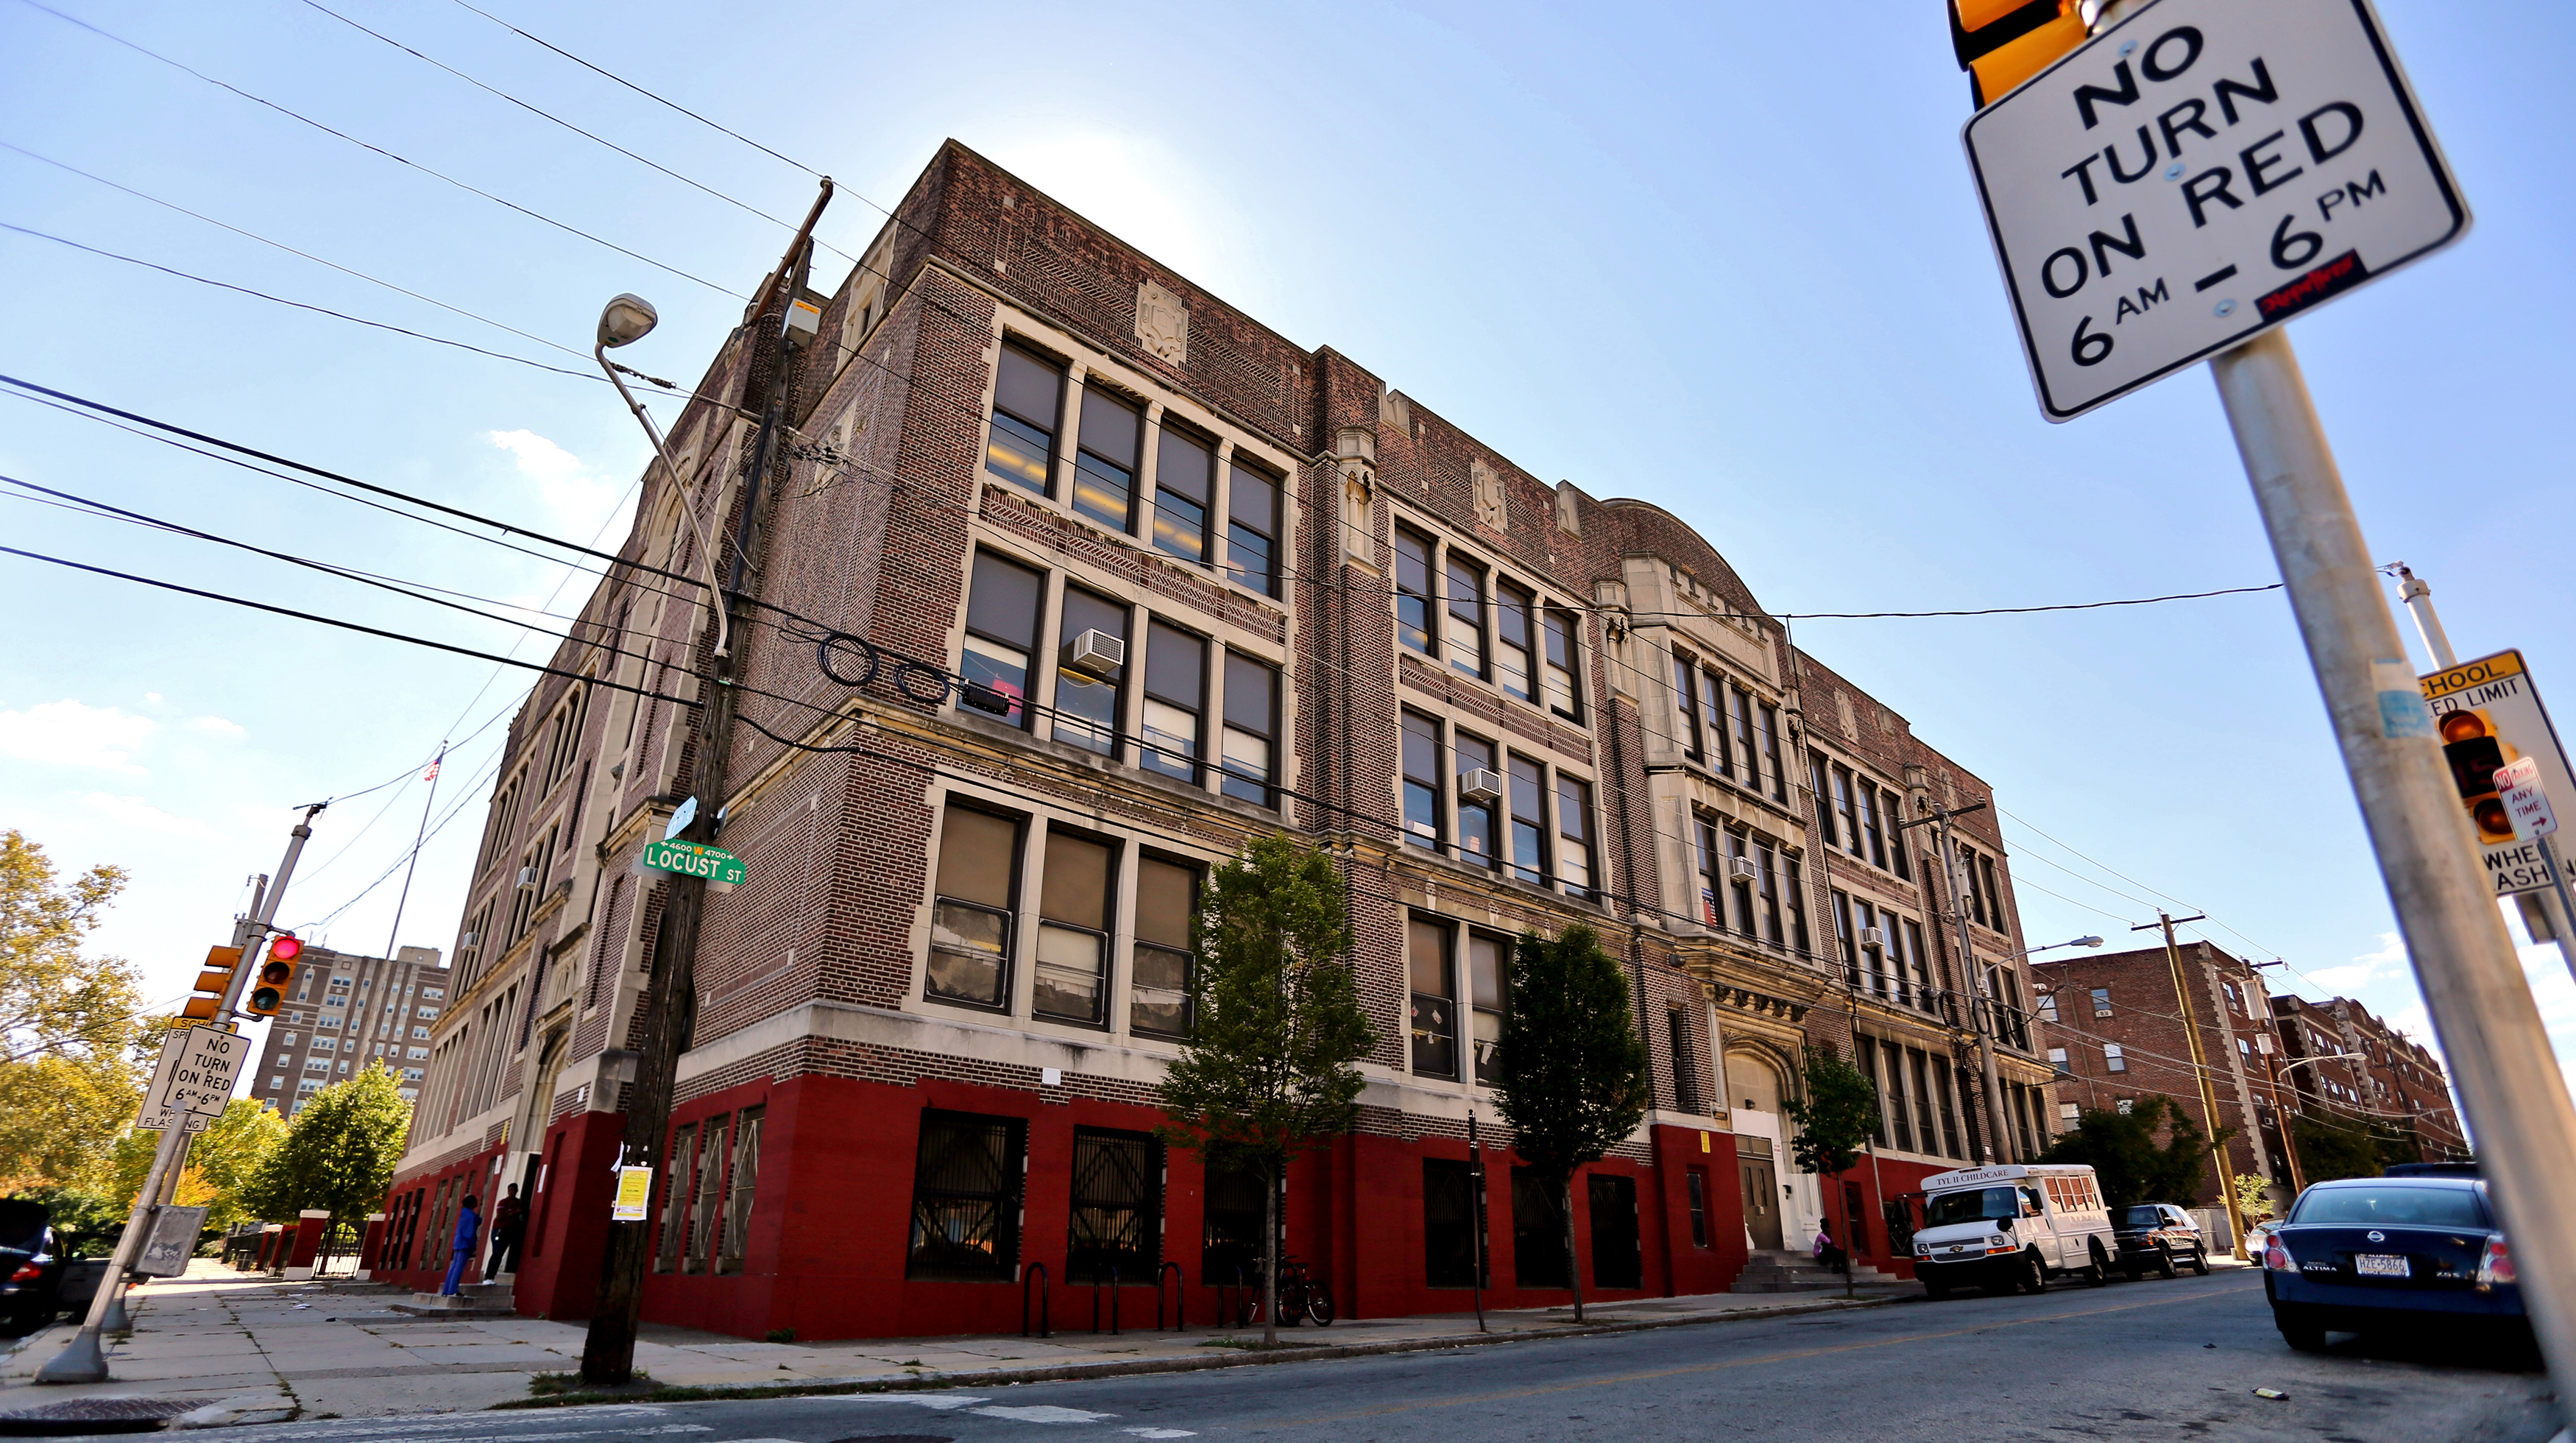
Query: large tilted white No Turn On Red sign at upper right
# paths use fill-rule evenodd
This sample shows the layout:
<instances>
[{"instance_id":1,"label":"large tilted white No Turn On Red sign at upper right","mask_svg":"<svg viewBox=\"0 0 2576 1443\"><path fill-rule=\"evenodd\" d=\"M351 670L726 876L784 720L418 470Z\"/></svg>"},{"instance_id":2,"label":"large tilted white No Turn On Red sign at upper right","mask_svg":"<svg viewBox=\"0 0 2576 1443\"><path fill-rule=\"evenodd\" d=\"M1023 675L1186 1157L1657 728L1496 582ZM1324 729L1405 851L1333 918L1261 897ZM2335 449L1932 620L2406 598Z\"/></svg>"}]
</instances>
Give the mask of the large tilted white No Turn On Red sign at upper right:
<instances>
[{"instance_id":1,"label":"large tilted white No Turn On Red sign at upper right","mask_svg":"<svg viewBox=\"0 0 2576 1443\"><path fill-rule=\"evenodd\" d=\"M2154 0L1963 139L2048 420L2468 232L2367 0Z\"/></svg>"}]
</instances>

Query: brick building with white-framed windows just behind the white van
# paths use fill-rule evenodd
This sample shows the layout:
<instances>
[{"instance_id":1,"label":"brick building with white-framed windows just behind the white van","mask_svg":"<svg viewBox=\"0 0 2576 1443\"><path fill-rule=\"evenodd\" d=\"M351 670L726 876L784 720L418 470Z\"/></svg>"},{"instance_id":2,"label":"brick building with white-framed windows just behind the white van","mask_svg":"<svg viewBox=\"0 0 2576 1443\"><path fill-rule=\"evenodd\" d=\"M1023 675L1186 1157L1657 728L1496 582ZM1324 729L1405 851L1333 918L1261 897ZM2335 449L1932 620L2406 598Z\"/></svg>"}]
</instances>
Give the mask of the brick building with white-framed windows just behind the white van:
<instances>
[{"instance_id":1,"label":"brick building with white-framed windows just behind the white van","mask_svg":"<svg viewBox=\"0 0 2576 1443\"><path fill-rule=\"evenodd\" d=\"M2269 987L2251 964L2210 943L2184 943L2182 987L2200 1031L2200 1054L2218 1098L2215 1126L2233 1129L2228 1175L2275 1185L2275 1206L2293 1196L2287 1108L2295 1098L2277 1080ZM2161 946L2069 956L2032 966L2048 1062L2058 1075L2058 1126L2076 1111L2128 1111L2141 1098L2166 1098L2202 1136L2215 1129L2192 1069L2192 1044L2174 964ZM2226 1206L2215 1170L2205 1170L2192 1206Z\"/></svg>"}]
</instances>

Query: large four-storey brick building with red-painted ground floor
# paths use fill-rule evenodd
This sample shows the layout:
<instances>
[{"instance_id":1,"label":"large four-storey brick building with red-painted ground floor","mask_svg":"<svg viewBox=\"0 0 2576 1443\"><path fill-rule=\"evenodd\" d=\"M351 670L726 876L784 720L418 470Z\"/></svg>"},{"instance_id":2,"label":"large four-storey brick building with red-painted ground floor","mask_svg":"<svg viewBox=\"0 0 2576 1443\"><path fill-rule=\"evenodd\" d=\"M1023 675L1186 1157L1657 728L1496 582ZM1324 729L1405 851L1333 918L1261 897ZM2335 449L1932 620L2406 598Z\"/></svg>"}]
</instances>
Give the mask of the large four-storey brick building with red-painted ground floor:
<instances>
[{"instance_id":1,"label":"large four-storey brick building with red-painted ground floor","mask_svg":"<svg viewBox=\"0 0 2576 1443\"><path fill-rule=\"evenodd\" d=\"M1891 1203L2045 1147L1996 814L1960 819L1955 894L1896 827L1991 791L1685 523L1540 482L953 142L799 299L801 348L775 317L726 340L639 564L510 727L376 1276L433 1283L459 1201L518 1183L515 1306L592 1306L670 884L634 861L706 747L698 526L747 536L719 835L747 879L706 899L647 1319L1010 1330L1041 1263L1175 1263L1211 1317L1262 1198L1154 1142L1154 1087L1198 889L1273 830L1337 861L1378 1033L1360 1126L1288 1178L1288 1250L1345 1317L1466 1306L1471 1116L1494 1301L1566 1299L1489 1090L1525 930L1597 928L1651 1049L1646 1123L1574 1193L1592 1296L1723 1291L1819 1216L1909 1268ZM786 430L747 477L757 412L719 402L773 366ZM1811 1044L1886 1103L1839 1178L1788 1157Z\"/></svg>"}]
</instances>

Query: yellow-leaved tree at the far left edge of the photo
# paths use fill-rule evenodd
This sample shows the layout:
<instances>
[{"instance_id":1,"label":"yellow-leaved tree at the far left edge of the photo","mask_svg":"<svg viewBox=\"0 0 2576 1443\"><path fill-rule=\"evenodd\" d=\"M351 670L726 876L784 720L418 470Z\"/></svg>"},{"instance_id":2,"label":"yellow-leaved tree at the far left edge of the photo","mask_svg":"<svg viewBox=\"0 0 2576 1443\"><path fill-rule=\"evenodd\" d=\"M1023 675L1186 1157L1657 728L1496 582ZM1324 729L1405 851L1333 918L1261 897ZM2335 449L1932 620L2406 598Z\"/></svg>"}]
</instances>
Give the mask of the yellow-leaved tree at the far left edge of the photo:
<instances>
[{"instance_id":1,"label":"yellow-leaved tree at the far left edge of the photo","mask_svg":"<svg viewBox=\"0 0 2576 1443\"><path fill-rule=\"evenodd\" d=\"M62 884L41 845L0 832L0 1185L93 1185L142 1105L160 1033L134 969L80 951L124 884L116 866Z\"/></svg>"}]
</instances>

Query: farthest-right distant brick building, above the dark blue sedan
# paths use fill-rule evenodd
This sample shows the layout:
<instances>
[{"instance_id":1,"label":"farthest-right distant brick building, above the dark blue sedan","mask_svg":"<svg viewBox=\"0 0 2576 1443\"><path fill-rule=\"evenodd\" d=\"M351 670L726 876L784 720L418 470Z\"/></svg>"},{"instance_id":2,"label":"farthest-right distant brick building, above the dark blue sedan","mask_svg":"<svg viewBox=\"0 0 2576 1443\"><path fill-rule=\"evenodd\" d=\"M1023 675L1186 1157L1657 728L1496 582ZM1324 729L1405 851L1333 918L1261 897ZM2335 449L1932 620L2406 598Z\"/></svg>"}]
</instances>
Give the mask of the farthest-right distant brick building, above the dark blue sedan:
<instances>
[{"instance_id":1,"label":"farthest-right distant brick building, above the dark blue sedan","mask_svg":"<svg viewBox=\"0 0 2576 1443\"><path fill-rule=\"evenodd\" d=\"M2352 997L2308 1002L2272 997L2282 1041L2282 1085L2329 1126L2370 1123L2391 1131L2427 1162L2468 1157L2468 1131L2450 1098L2442 1062ZM2339 1056L2349 1054L2349 1056ZM2290 1067L2303 1062L2303 1067Z\"/></svg>"}]
</instances>

